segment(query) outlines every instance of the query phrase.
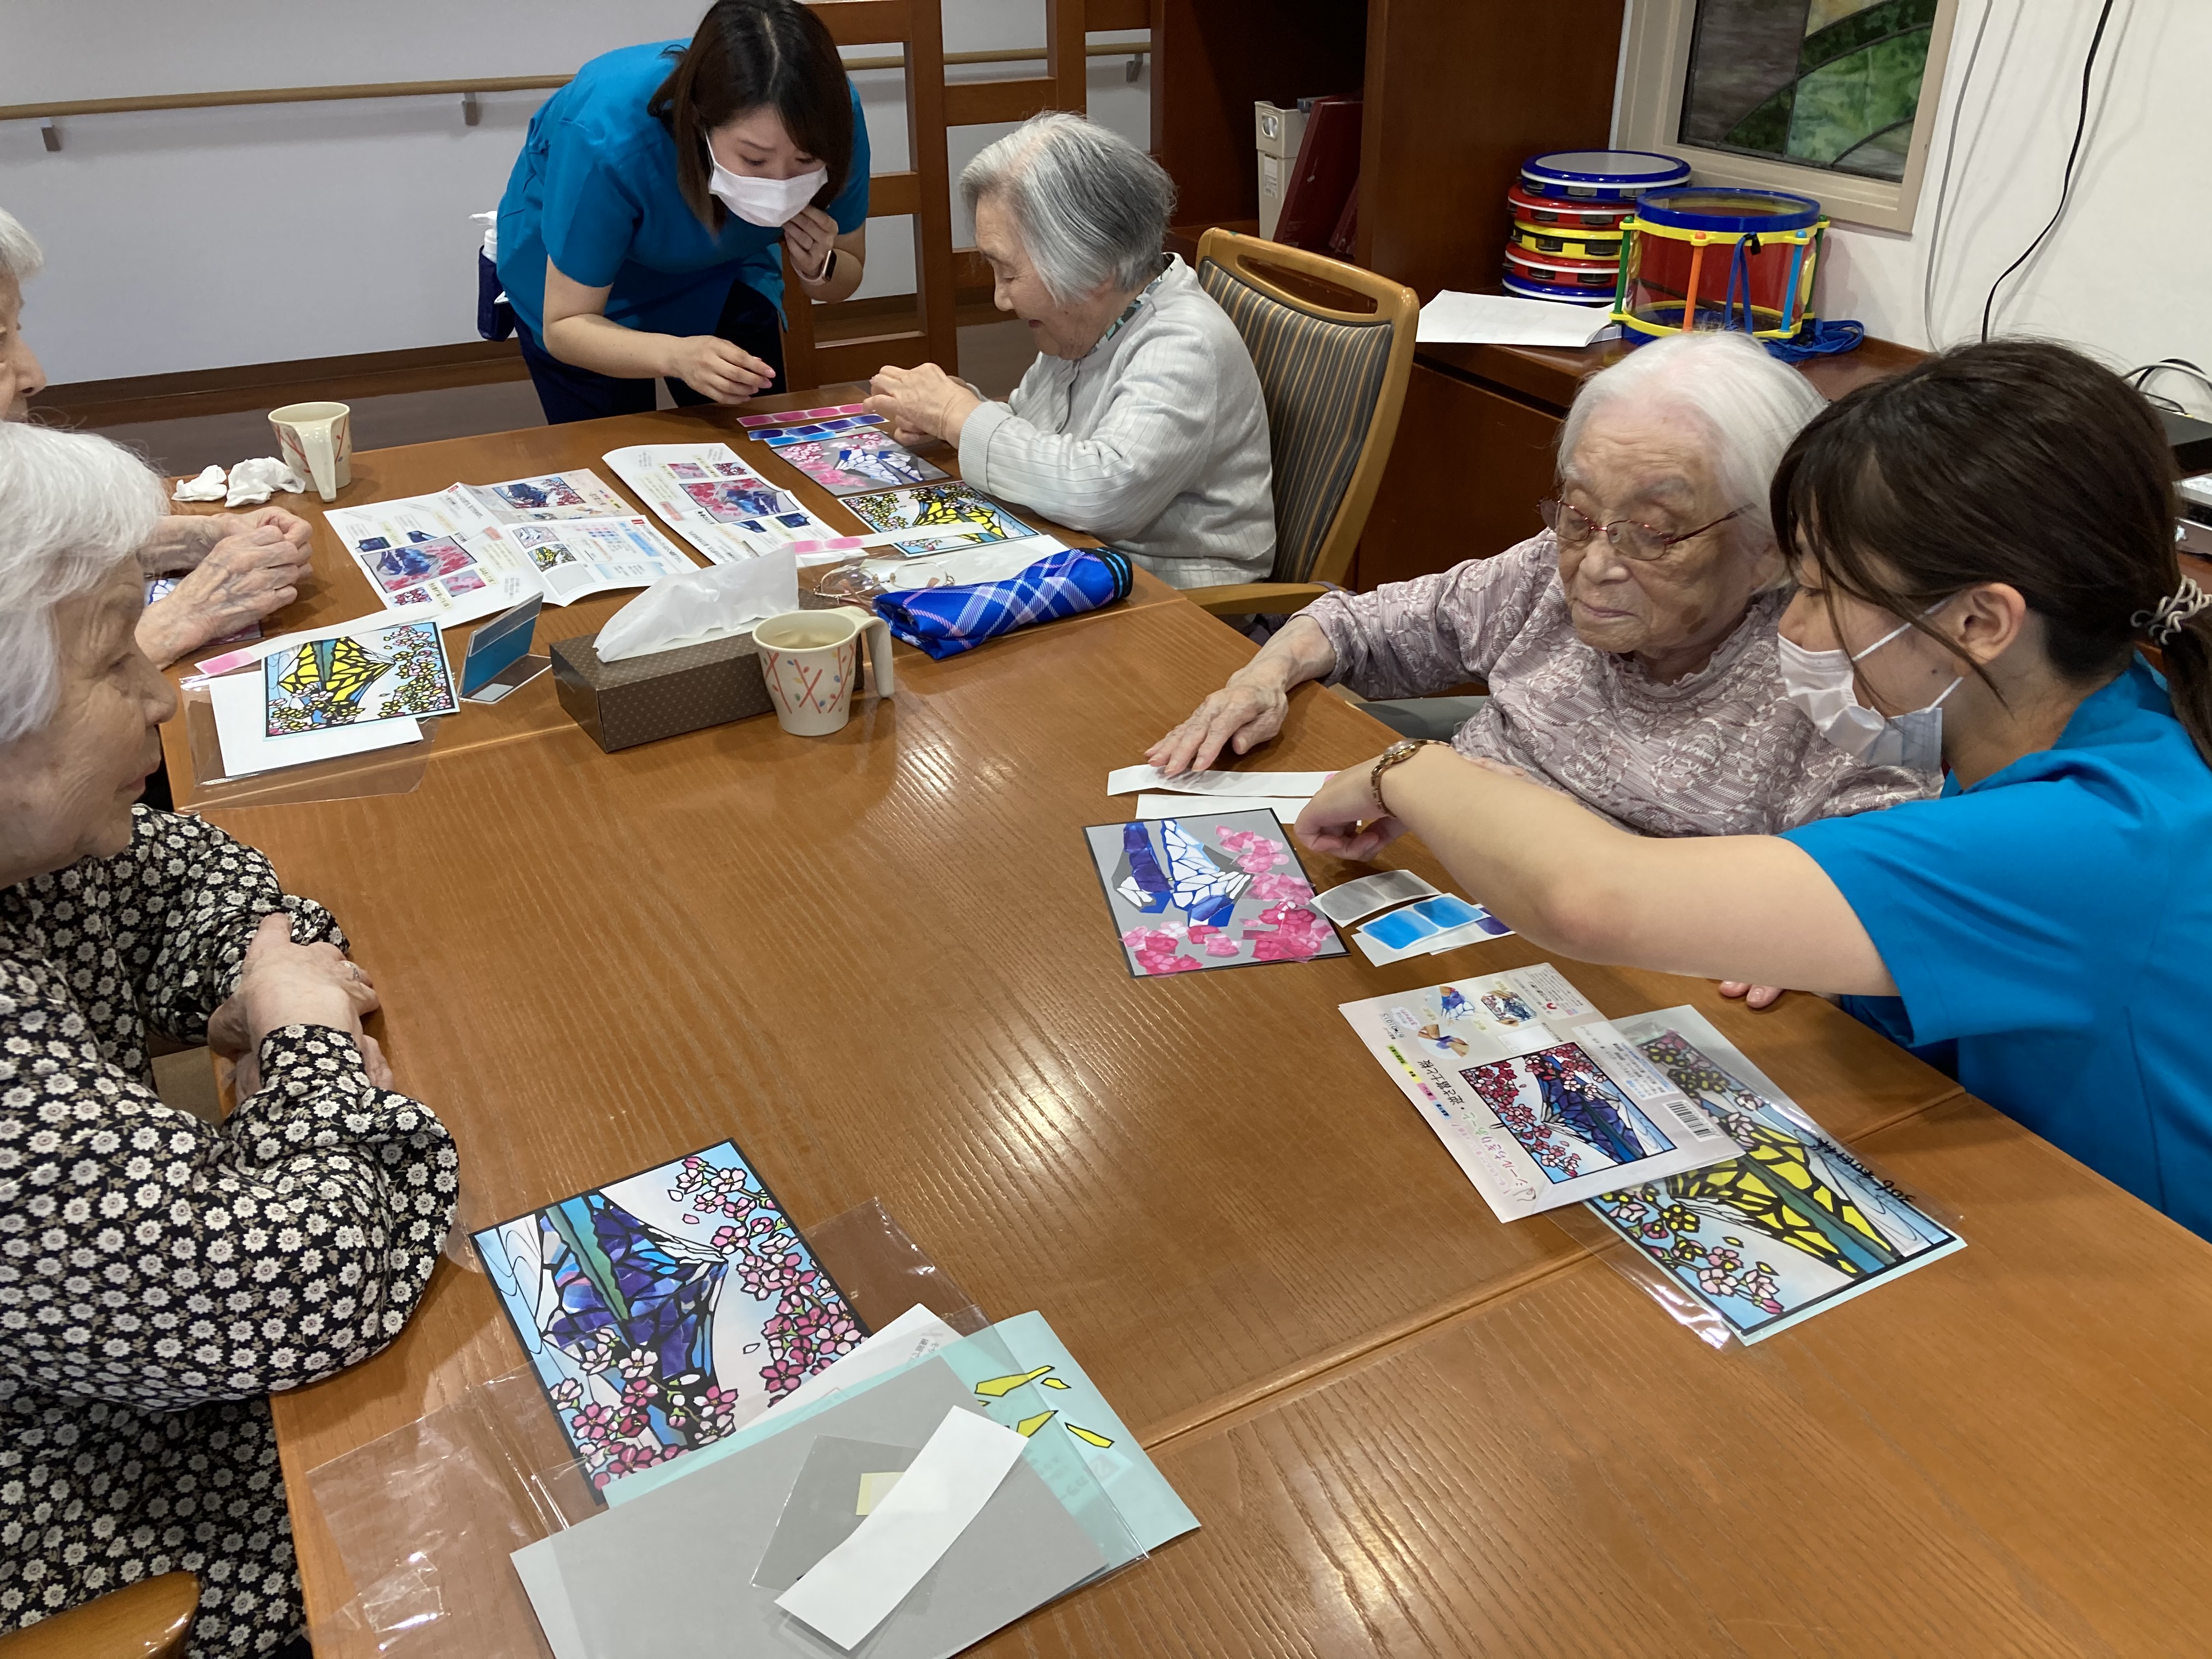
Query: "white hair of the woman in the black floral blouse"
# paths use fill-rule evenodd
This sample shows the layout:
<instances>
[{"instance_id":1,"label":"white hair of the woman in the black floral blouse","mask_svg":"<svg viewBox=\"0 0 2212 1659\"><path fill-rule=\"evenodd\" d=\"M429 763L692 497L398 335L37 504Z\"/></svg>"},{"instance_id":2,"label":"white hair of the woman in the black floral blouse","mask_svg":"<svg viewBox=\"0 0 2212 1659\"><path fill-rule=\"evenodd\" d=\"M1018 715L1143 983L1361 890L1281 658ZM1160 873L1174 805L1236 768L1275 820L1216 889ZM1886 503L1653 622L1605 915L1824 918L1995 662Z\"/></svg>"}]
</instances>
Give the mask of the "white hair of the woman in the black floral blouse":
<instances>
[{"instance_id":1,"label":"white hair of the woman in the black floral blouse","mask_svg":"<svg viewBox=\"0 0 2212 1659\"><path fill-rule=\"evenodd\" d=\"M55 606L135 560L157 518L161 484L122 445L0 420L0 748L53 719Z\"/></svg>"}]
</instances>

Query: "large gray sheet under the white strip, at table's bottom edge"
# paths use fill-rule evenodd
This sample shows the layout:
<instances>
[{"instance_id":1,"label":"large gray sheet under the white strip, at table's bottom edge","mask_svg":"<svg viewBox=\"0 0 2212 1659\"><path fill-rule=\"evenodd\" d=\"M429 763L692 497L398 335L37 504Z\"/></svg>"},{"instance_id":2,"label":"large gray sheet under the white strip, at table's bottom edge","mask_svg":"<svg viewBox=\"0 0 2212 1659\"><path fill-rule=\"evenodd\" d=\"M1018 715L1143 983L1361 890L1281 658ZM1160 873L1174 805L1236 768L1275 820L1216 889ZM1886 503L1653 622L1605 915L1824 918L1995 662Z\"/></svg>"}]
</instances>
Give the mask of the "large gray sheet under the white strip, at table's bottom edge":
<instances>
[{"instance_id":1,"label":"large gray sheet under the white strip, at table's bottom edge","mask_svg":"<svg viewBox=\"0 0 2212 1659\"><path fill-rule=\"evenodd\" d=\"M684 1480L593 1515L518 1553L526 1584L544 1584L553 1557L580 1646L588 1659L664 1659L670 1652L801 1655L803 1659L949 1659L1000 1626L1135 1557L1135 1544L1102 1546L1055 1498L1037 1460L1075 1453L1044 1438L909 1595L858 1646L845 1650L776 1608L757 1584L801 1473L823 1438L920 1449L949 1409L975 1409L942 1358L922 1360L849 1400ZM821 1533L794 1542L805 1553ZM836 1540L825 1544L825 1551ZM816 1557L818 1559L818 1557ZM779 1577L785 1559L770 1562ZM535 1599L535 1590L533 1590ZM555 1615L557 1617L557 1615Z\"/></svg>"}]
</instances>

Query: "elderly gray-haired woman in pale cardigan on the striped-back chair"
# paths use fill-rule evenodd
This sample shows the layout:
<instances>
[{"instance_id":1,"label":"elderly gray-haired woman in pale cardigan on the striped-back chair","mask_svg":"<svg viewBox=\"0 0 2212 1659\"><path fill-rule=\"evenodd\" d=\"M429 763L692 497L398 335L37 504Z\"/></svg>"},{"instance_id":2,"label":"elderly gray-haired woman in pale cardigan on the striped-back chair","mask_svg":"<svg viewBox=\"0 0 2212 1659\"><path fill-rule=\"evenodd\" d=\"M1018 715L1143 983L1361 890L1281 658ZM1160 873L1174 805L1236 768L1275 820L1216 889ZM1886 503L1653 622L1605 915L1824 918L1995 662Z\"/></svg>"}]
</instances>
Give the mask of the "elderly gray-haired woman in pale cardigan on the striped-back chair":
<instances>
[{"instance_id":1,"label":"elderly gray-haired woman in pale cardigan on the striped-back chair","mask_svg":"<svg viewBox=\"0 0 2212 1659\"><path fill-rule=\"evenodd\" d=\"M869 407L900 440L960 447L975 489L1088 531L1179 588L1274 564L1267 407L1243 336L1159 250L1175 186L1079 115L1037 115L967 164L960 195L993 301L1037 361L1011 403L933 363L883 369Z\"/></svg>"}]
</instances>

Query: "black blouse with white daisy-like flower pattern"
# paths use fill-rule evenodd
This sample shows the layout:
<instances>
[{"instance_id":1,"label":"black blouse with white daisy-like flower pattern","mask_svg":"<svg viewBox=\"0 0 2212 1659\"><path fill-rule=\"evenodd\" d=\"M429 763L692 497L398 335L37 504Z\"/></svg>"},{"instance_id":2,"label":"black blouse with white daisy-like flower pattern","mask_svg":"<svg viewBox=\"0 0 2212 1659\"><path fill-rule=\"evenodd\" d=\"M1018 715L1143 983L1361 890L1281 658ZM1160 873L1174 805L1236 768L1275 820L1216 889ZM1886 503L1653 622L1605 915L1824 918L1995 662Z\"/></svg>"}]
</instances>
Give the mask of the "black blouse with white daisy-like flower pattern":
<instances>
[{"instance_id":1,"label":"black blouse with white daisy-like flower pattern","mask_svg":"<svg viewBox=\"0 0 2212 1659\"><path fill-rule=\"evenodd\" d=\"M389 1343L453 1214L453 1144L345 1033L285 1026L223 1124L153 1093L254 925L341 942L268 858L137 807L131 849L0 889L0 1628L199 1575L192 1655L301 1630L268 1394Z\"/></svg>"}]
</instances>

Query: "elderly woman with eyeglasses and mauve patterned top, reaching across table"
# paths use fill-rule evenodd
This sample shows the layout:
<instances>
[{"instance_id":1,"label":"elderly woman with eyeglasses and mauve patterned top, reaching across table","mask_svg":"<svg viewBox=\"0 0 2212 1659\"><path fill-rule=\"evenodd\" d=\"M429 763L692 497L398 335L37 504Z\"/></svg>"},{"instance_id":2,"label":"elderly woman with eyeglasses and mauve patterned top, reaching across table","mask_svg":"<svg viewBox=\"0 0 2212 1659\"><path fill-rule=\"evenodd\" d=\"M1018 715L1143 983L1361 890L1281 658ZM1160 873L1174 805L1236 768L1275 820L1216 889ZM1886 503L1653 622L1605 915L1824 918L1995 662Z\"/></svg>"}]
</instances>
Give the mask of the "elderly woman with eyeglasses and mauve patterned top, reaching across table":
<instances>
[{"instance_id":1,"label":"elderly woman with eyeglasses and mauve patterned top, reaching across table","mask_svg":"<svg viewBox=\"0 0 2212 1659\"><path fill-rule=\"evenodd\" d=\"M1763 836L1936 794L1933 759L1874 765L1783 695L1774 624L1790 584L1767 482L1820 407L1741 334L1639 347L1575 398L1542 535L1323 595L1148 759L1183 772L1245 754L1307 679L1378 699L1480 679L1489 697L1458 730L1425 730L1416 706L1376 712L1644 834Z\"/></svg>"}]
</instances>

